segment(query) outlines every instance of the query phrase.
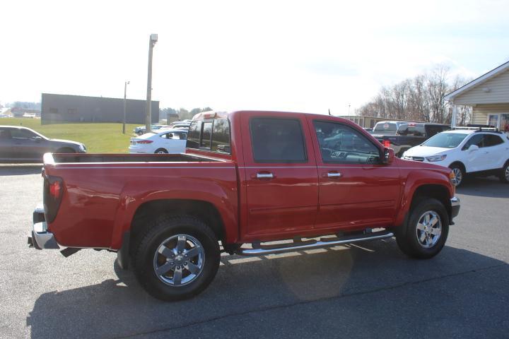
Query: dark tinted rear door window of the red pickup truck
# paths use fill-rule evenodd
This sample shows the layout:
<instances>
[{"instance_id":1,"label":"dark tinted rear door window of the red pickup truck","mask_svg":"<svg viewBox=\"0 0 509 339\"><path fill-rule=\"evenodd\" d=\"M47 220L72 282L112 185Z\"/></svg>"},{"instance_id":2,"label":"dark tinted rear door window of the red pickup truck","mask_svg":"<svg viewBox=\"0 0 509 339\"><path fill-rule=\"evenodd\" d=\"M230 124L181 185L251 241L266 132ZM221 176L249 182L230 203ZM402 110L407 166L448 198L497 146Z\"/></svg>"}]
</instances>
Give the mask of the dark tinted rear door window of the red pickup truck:
<instances>
[{"instance_id":1,"label":"dark tinted rear door window of the red pickup truck","mask_svg":"<svg viewBox=\"0 0 509 339\"><path fill-rule=\"evenodd\" d=\"M307 162L298 119L252 118L250 132L255 162Z\"/></svg>"}]
</instances>

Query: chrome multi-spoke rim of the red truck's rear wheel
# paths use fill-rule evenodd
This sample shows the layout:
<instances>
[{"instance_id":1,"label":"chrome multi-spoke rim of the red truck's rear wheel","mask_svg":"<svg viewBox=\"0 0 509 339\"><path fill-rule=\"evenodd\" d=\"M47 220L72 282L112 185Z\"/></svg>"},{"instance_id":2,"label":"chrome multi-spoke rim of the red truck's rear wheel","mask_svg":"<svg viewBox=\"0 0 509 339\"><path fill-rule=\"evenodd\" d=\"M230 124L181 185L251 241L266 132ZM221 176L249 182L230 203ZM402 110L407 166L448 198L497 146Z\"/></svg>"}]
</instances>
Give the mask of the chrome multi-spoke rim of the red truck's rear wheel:
<instances>
[{"instance_id":1,"label":"chrome multi-spoke rim of the red truck's rear wheel","mask_svg":"<svg viewBox=\"0 0 509 339\"><path fill-rule=\"evenodd\" d=\"M153 269L163 283L182 286L200 275L204 263L205 251L198 239L187 234L177 234L158 246L153 258Z\"/></svg>"}]
</instances>

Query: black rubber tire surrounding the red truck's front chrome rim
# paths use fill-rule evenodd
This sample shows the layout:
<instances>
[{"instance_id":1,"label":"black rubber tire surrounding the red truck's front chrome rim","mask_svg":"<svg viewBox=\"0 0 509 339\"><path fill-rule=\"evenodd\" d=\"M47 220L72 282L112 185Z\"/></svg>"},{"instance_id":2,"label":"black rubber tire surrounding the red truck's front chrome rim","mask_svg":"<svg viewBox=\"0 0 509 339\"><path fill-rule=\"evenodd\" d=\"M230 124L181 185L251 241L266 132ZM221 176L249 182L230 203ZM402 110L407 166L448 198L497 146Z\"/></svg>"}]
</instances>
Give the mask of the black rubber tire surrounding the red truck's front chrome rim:
<instances>
[{"instance_id":1,"label":"black rubber tire surrounding the red truck's front chrome rim","mask_svg":"<svg viewBox=\"0 0 509 339\"><path fill-rule=\"evenodd\" d=\"M426 213L430 213L432 215L438 215L440 222L440 234L438 235L438 239L435 241L436 235L429 234L429 239L431 239L431 244L422 244L419 239L419 235L422 235L425 231L418 230L418 224L421 218L425 218ZM438 222L435 223L431 228L438 228ZM428 259L436 256L443 249L445 245L445 241L447 240L447 234L449 233L449 215L445 207L440 201L434 198L423 198L421 201L416 203L414 208L410 211L410 215L408 218L408 222L404 230L399 230L396 233L396 241L399 246L399 249L402 250L404 254L407 256L411 256L412 258L418 259ZM423 227L422 224L420 227ZM429 227L426 225L426 227ZM430 228L427 228L430 230ZM437 232L436 230L433 232ZM423 242L428 242L428 236L426 235Z\"/></svg>"}]
</instances>

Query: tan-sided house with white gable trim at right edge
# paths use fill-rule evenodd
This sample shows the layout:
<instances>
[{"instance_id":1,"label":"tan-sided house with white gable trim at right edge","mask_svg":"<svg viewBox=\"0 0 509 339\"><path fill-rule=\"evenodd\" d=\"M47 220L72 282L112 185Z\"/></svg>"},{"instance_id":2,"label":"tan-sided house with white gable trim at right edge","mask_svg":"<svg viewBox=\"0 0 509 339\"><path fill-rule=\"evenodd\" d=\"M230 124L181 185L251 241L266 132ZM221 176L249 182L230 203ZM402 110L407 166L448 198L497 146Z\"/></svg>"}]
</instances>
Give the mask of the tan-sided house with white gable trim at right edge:
<instances>
[{"instance_id":1,"label":"tan-sided house with white gable trim at right edge","mask_svg":"<svg viewBox=\"0 0 509 339\"><path fill-rule=\"evenodd\" d=\"M509 61L445 95L452 105L452 126L457 105L472 107L471 124L492 125L509 134Z\"/></svg>"}]
</instances>

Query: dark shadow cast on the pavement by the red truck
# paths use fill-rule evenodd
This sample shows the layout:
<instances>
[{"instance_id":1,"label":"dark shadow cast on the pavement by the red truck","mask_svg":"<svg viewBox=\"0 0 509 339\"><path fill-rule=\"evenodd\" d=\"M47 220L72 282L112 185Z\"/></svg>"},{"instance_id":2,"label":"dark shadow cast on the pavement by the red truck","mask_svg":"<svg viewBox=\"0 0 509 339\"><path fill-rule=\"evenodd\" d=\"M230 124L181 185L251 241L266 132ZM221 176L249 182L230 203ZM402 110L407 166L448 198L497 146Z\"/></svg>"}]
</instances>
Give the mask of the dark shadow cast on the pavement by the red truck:
<instances>
[{"instance_id":1,"label":"dark shadow cast on the pavement by the red truck","mask_svg":"<svg viewBox=\"0 0 509 339\"><path fill-rule=\"evenodd\" d=\"M189 331L217 338L228 326L238 331L233 338L298 338L330 336L330 326L341 324L361 337L408 326L409 336L423 329L429 338L443 338L452 331L447 328L488 328L498 321L492 314L503 319L509 313L509 290L489 286L508 282L507 263L450 246L433 259L413 260L393 239L279 256L222 256L209 288L183 302L153 299L131 271L116 262L114 268L117 280L40 295L27 317L32 338L165 338ZM489 280L479 286L484 276ZM472 305L482 316L468 321ZM422 313L429 319L415 316ZM499 328L495 337L505 331ZM285 335L276 335L281 331Z\"/></svg>"}]
</instances>

